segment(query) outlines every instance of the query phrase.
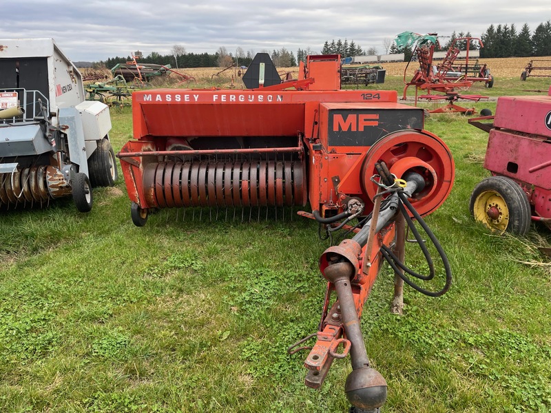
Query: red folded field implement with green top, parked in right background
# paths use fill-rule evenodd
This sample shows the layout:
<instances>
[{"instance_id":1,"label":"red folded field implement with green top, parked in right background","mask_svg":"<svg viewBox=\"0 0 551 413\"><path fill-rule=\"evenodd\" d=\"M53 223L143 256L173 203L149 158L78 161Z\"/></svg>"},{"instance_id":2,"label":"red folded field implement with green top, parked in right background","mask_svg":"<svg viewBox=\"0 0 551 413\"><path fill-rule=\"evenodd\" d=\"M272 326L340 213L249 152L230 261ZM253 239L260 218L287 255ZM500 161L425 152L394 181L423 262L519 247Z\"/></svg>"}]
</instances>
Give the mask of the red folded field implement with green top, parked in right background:
<instances>
[{"instance_id":1,"label":"red folded field implement with green top, parked in right background","mask_svg":"<svg viewBox=\"0 0 551 413\"><path fill-rule=\"evenodd\" d=\"M405 86L402 100L406 100L407 98L408 87L414 86L415 105L417 105L418 98L430 101L448 101L446 106L439 107L429 112L460 112L464 114L474 114L474 108L461 107L457 105L457 101L464 99L477 102L481 99L488 98L488 96L461 94L459 91L470 88L476 81L484 81L486 87L492 87L494 85L494 78L486 65L480 65L478 61L476 61L475 65L469 64L470 43L473 40L479 41L480 46L483 47L480 39L474 37L460 37L455 39L452 45L450 45L444 59L435 65L434 53L435 47L437 47L438 44L436 34L428 34L426 36L413 34L411 32L399 34L396 40L397 47L404 48L406 46L415 46L412 56L416 56L419 62L419 69L415 72L410 81L406 81L406 76L411 60L408 62L408 65L406 65L406 69L404 70ZM466 60L465 63L457 64L455 61L461 51L456 47L456 43L461 41L466 44ZM426 94L419 96L419 90L425 91ZM439 92L440 94L435 95L432 92Z\"/></svg>"}]
</instances>

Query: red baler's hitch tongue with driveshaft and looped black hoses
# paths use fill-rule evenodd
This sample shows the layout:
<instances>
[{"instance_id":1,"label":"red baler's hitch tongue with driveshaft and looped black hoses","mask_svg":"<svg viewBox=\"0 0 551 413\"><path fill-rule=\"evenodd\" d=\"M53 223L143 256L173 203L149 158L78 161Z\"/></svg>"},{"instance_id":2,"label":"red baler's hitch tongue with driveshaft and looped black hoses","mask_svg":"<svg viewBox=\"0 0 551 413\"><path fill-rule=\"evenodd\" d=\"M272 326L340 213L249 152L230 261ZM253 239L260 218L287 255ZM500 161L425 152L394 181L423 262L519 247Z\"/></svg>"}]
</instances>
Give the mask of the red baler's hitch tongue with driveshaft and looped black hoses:
<instances>
[{"instance_id":1,"label":"red baler's hitch tongue with driveshaft and looped black hoses","mask_svg":"<svg viewBox=\"0 0 551 413\"><path fill-rule=\"evenodd\" d=\"M375 198L381 200L382 195L389 194L388 198L383 200L384 207L379 209L380 202L374 199L373 216L364 224L362 229L357 231L352 239L344 240L338 246L331 246L322 254L320 270L329 282L324 308L329 308L329 295L332 290L336 292L336 300L329 310L324 311L320 331L317 335L309 335L289 348L290 354L298 350L310 350L306 361L304 361L304 366L309 369L305 384L311 388L321 387L334 359L344 358L347 354L350 354L353 370L346 379L345 392L350 403L357 409L362 410L376 410L381 407L386 401L387 391L384 377L371 367L360 328L361 308L367 298L366 290L364 290L366 279L369 271L378 271L377 266L372 265L373 257L377 257L379 255L378 250L381 250L383 257L391 263L400 279L427 295L437 297L444 294L451 282L450 266L444 251L441 250L441 246L439 246L434 234L428 229L422 217L408 202L408 198L424 190L424 178L415 171L406 171L402 175L403 178L397 178L389 171L385 162L376 162L375 170L378 175L372 176L371 181L380 187L380 191L375 195ZM419 242L419 245L426 253L430 268L430 275L428 276L419 275L407 268L402 262L399 262L397 255L387 246L392 238L390 240L386 238L385 242L375 242L375 240L385 240L384 233L388 231L389 224L392 225L393 221L396 220L397 215L405 216L415 237L419 240L419 232L415 229L404 204L419 224L422 225L441 255L442 262L444 262L446 284L444 288L437 292L420 288L403 274L406 271L409 275L424 280L433 279L435 276L432 259L428 256L428 251L423 242ZM399 222L399 220L396 220L396 222ZM401 222L404 226L404 220ZM402 248L403 245L402 242ZM371 261L366 262L366 260ZM366 263L369 265L366 266ZM344 335L344 338L342 335ZM314 346L303 345L313 337L317 337ZM337 348L341 345L344 346L344 350L337 352Z\"/></svg>"}]
</instances>

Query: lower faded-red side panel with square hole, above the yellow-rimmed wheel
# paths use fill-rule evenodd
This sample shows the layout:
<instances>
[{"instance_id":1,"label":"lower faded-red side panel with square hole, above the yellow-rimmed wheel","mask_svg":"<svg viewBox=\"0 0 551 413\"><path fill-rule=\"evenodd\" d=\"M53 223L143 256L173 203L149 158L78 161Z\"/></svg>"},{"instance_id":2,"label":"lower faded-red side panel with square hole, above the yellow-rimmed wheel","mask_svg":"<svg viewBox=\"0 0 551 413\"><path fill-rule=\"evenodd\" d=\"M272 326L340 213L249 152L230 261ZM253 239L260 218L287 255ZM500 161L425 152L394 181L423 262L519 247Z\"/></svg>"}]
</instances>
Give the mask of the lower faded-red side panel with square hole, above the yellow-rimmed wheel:
<instances>
[{"instance_id":1,"label":"lower faded-red side panel with square hole, above the yellow-rimmed wheel","mask_svg":"<svg viewBox=\"0 0 551 413\"><path fill-rule=\"evenodd\" d=\"M484 167L544 189L551 189L551 144L492 129Z\"/></svg>"}]
</instances>

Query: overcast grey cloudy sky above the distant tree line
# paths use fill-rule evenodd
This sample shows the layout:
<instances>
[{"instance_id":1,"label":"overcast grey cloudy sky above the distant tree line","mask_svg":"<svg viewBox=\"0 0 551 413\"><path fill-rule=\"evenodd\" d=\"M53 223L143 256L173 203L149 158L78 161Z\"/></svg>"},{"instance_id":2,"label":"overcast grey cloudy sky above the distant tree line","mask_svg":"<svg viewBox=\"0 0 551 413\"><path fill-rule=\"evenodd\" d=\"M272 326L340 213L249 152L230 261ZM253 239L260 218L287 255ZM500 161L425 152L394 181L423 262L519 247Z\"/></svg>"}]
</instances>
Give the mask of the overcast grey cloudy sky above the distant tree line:
<instances>
[{"instance_id":1,"label":"overcast grey cloudy sky above the distant tree line","mask_svg":"<svg viewBox=\"0 0 551 413\"><path fill-rule=\"evenodd\" d=\"M404 31L481 36L492 23L517 31L528 23L533 33L550 19L550 0L0 0L0 39L52 37L73 61L168 54L174 45L320 52L332 39L384 54L384 39Z\"/></svg>"}]
</instances>

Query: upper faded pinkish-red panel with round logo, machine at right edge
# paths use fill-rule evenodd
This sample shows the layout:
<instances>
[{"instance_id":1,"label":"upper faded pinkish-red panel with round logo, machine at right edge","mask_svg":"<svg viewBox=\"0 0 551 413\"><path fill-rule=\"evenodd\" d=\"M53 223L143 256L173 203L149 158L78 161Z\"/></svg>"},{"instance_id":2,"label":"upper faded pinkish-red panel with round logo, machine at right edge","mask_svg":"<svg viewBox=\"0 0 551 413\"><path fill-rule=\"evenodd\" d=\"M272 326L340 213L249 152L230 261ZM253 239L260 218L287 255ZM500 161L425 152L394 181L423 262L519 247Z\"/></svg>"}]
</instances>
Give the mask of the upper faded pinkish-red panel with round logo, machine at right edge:
<instances>
[{"instance_id":1,"label":"upper faded pinkish-red panel with round logo, machine at right edge","mask_svg":"<svg viewBox=\"0 0 551 413\"><path fill-rule=\"evenodd\" d=\"M500 96L494 127L551 138L550 112L551 96Z\"/></svg>"}]
</instances>

